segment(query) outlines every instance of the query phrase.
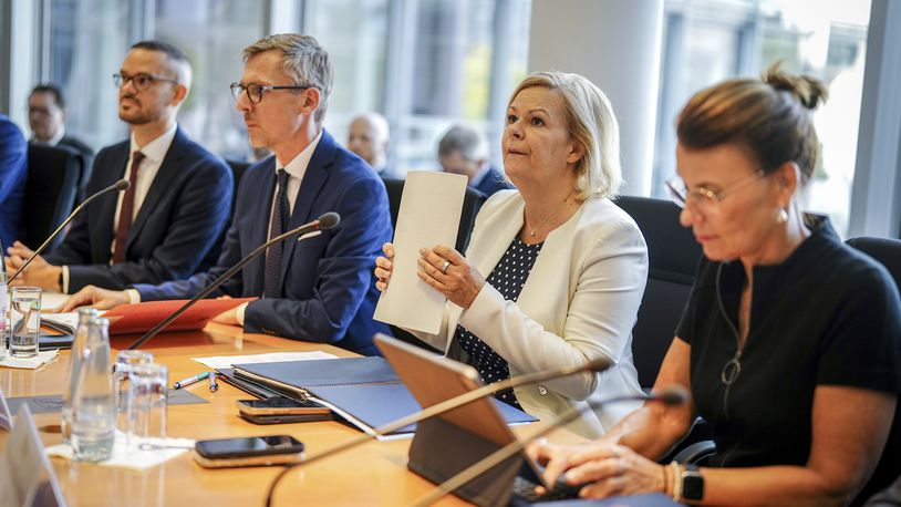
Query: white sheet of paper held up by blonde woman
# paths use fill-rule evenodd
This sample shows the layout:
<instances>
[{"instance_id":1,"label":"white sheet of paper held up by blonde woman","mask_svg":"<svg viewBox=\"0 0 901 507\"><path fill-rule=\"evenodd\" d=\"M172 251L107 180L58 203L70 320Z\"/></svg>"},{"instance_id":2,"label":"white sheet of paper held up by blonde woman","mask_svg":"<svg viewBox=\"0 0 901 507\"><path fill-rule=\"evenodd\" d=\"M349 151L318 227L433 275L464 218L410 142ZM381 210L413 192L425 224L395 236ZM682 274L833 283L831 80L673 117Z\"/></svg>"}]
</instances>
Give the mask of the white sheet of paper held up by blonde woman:
<instances>
[{"instance_id":1,"label":"white sheet of paper held up by blonde woman","mask_svg":"<svg viewBox=\"0 0 901 507\"><path fill-rule=\"evenodd\" d=\"M446 300L420 280L416 261L420 248L453 247L457 241L465 196L466 176L407 173L394 230L394 271L375 307L375 320L432 334L441 330Z\"/></svg>"}]
</instances>

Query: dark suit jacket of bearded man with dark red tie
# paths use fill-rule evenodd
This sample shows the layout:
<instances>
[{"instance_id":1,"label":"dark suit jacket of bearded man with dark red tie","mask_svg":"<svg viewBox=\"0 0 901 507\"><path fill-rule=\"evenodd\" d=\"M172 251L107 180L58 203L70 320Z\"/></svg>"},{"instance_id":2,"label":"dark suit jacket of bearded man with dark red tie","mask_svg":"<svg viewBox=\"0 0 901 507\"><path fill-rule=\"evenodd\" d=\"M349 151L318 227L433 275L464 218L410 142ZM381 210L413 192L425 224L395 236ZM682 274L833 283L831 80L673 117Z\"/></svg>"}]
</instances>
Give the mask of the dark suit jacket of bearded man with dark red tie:
<instances>
[{"instance_id":1,"label":"dark suit jacket of bearded man with dark red tie","mask_svg":"<svg viewBox=\"0 0 901 507\"><path fill-rule=\"evenodd\" d=\"M89 195L123 177L130 147L125 141L97 154ZM179 127L132 224L126 261L110 266L117 193L90 204L46 260L69 266L70 292L87 284L121 290L188 278L218 256L231 194L226 163Z\"/></svg>"}]
</instances>

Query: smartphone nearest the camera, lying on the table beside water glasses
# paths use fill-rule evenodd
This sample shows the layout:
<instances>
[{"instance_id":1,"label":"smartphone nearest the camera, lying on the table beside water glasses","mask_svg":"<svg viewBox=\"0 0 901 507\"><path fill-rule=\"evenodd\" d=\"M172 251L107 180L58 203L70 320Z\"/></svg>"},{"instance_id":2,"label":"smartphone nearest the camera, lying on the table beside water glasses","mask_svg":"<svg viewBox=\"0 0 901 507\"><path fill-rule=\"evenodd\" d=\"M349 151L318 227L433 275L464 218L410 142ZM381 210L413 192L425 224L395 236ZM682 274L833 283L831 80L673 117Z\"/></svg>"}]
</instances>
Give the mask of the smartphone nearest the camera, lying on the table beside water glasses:
<instances>
[{"instance_id":1,"label":"smartphone nearest the camera, lying on the table beside water glasses","mask_svg":"<svg viewBox=\"0 0 901 507\"><path fill-rule=\"evenodd\" d=\"M303 456L303 443L290 435L197 441L194 458L206 468L289 465Z\"/></svg>"}]
</instances>

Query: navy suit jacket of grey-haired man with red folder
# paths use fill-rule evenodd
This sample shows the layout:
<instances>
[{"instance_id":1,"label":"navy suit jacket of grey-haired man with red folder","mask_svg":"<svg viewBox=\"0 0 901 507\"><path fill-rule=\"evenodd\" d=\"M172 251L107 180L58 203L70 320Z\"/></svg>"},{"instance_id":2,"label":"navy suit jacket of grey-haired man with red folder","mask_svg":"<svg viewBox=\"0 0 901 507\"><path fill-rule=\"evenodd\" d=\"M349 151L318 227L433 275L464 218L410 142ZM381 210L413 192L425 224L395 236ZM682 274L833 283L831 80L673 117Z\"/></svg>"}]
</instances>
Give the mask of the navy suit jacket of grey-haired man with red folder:
<instances>
[{"instance_id":1,"label":"navy suit jacket of grey-haired man with red folder","mask_svg":"<svg viewBox=\"0 0 901 507\"><path fill-rule=\"evenodd\" d=\"M135 286L142 301L193 297L266 242L275 188L275 157L251 166L241 178L235 218L217 266L184 281ZM372 320L379 299L372 271L382 245L392 237L387 195L372 168L323 131L303 175L289 227L328 211L341 215L341 224L320 236L284 242L283 293L251 302L244 329L376 354L372 337L387 332L387 327ZM213 296L262 294L265 257L249 263L240 277Z\"/></svg>"}]
</instances>

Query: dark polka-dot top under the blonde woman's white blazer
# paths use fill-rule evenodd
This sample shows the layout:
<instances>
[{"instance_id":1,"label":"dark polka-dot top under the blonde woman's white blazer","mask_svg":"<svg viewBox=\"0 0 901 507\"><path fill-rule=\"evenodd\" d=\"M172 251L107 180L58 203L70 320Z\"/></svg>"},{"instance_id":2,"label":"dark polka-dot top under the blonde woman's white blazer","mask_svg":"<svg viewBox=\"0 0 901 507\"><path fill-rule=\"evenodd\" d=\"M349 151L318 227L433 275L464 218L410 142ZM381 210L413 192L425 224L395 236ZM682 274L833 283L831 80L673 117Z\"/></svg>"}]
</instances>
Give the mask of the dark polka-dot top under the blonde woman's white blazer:
<instances>
[{"instance_id":1,"label":"dark polka-dot top under the blonde woman's white blazer","mask_svg":"<svg viewBox=\"0 0 901 507\"><path fill-rule=\"evenodd\" d=\"M522 286L529 278L542 245L545 244L526 245L519 237L514 238L486 282L497 289L505 300L516 301L519 292L522 292ZM509 379L510 368L507 361L466 328L457 325L454 340L466 351L465 362L478 370L486 384ZM495 397L521 408L511 389L498 391Z\"/></svg>"}]
</instances>

